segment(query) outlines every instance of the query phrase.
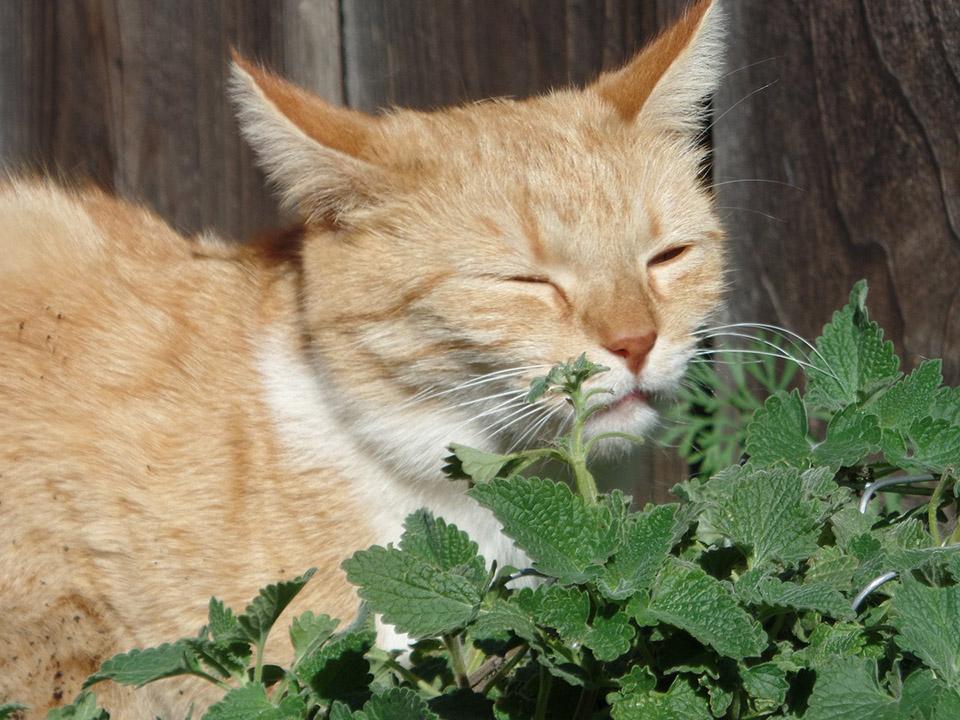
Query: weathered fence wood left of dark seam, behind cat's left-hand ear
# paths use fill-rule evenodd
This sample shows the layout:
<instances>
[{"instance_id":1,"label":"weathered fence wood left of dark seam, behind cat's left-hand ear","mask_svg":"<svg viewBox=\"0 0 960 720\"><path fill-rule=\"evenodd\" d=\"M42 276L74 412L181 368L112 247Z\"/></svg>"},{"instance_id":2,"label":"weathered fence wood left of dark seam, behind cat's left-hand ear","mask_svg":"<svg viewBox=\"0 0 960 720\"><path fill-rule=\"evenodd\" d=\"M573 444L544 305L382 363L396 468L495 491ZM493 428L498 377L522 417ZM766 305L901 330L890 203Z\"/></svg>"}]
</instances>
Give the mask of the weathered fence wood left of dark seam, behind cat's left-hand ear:
<instances>
[{"instance_id":1,"label":"weathered fence wood left of dark seam, behind cat's left-hand ear","mask_svg":"<svg viewBox=\"0 0 960 720\"><path fill-rule=\"evenodd\" d=\"M187 232L278 222L227 98L230 46L342 98L337 0L0 6L3 161L142 199Z\"/></svg>"}]
</instances>

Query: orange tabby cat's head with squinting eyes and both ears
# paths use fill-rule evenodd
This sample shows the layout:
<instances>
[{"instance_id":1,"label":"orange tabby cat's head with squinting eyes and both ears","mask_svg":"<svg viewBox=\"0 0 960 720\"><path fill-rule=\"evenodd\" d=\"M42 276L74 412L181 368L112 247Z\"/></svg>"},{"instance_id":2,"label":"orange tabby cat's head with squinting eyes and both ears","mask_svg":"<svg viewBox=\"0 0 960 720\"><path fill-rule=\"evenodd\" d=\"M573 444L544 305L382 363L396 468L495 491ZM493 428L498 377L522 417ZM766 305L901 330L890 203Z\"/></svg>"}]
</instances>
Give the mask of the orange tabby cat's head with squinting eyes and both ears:
<instances>
[{"instance_id":1,"label":"orange tabby cat's head with squinting eyes and both ears","mask_svg":"<svg viewBox=\"0 0 960 720\"><path fill-rule=\"evenodd\" d=\"M307 223L314 359L360 436L435 462L555 433L562 403L522 395L583 352L611 368L592 429L650 428L723 288L698 137L721 24L706 0L586 88L381 116L236 59L244 133Z\"/></svg>"}]
</instances>

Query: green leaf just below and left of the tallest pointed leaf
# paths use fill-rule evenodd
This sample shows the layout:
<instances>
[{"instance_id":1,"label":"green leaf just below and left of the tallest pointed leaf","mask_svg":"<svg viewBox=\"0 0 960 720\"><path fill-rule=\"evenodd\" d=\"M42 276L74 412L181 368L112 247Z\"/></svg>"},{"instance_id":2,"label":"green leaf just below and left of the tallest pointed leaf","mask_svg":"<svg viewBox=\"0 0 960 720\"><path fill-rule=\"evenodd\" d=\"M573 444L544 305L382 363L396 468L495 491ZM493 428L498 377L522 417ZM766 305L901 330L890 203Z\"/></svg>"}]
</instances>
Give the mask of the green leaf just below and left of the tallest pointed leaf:
<instances>
[{"instance_id":1,"label":"green leaf just below and left of the tallest pointed leaf","mask_svg":"<svg viewBox=\"0 0 960 720\"><path fill-rule=\"evenodd\" d=\"M747 425L747 455L753 465L810 465L807 413L794 390L767 398Z\"/></svg>"}]
</instances>

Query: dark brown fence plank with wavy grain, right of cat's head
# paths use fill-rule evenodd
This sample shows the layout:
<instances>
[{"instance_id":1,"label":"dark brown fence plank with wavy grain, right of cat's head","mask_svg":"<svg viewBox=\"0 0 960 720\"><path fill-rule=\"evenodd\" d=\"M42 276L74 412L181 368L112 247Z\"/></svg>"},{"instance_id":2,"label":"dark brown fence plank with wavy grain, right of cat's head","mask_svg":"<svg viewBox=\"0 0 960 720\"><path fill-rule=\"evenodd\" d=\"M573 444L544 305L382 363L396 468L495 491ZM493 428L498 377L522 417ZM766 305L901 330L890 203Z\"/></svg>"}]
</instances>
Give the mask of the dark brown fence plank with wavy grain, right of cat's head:
<instances>
[{"instance_id":1,"label":"dark brown fence plank with wavy grain, right of cat's head","mask_svg":"<svg viewBox=\"0 0 960 720\"><path fill-rule=\"evenodd\" d=\"M960 6L726 6L713 142L732 317L811 337L865 277L907 364L942 357L960 381Z\"/></svg>"}]
</instances>

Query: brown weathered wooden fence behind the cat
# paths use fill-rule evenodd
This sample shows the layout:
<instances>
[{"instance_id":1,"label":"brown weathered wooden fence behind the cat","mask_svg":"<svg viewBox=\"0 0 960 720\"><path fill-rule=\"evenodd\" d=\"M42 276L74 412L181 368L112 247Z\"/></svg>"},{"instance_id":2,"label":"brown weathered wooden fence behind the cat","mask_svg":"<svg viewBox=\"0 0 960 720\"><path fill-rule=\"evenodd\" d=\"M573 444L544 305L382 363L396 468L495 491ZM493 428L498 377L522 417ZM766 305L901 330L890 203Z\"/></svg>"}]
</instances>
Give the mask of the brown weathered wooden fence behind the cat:
<instances>
[{"instance_id":1,"label":"brown weathered wooden fence behind the cat","mask_svg":"<svg viewBox=\"0 0 960 720\"><path fill-rule=\"evenodd\" d=\"M852 283L960 382L960 3L725 0L713 176L731 319L817 334ZM524 96L618 65L680 0L0 0L0 164L88 177L180 230L279 221L228 48L375 110ZM683 468L641 463L663 498Z\"/></svg>"}]
</instances>

